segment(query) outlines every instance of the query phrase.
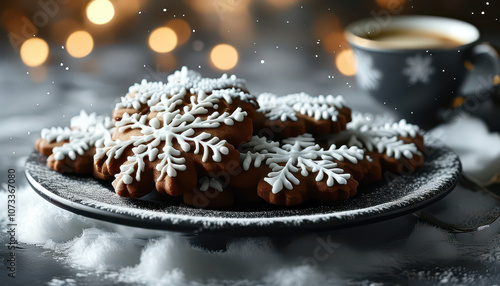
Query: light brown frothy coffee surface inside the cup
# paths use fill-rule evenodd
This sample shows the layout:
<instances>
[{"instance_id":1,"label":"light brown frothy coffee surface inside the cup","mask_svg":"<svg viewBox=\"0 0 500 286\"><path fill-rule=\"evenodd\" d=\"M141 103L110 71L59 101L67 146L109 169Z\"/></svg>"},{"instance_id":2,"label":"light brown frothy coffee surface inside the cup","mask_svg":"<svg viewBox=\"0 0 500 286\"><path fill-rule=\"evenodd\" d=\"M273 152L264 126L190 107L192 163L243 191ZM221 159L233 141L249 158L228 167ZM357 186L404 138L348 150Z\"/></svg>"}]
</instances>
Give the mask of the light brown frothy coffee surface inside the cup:
<instances>
[{"instance_id":1,"label":"light brown frothy coffee surface inside the cup","mask_svg":"<svg viewBox=\"0 0 500 286\"><path fill-rule=\"evenodd\" d=\"M377 41L377 45L396 49L447 49L463 45L458 39L431 31L418 30L383 30L373 36L366 37Z\"/></svg>"}]
</instances>

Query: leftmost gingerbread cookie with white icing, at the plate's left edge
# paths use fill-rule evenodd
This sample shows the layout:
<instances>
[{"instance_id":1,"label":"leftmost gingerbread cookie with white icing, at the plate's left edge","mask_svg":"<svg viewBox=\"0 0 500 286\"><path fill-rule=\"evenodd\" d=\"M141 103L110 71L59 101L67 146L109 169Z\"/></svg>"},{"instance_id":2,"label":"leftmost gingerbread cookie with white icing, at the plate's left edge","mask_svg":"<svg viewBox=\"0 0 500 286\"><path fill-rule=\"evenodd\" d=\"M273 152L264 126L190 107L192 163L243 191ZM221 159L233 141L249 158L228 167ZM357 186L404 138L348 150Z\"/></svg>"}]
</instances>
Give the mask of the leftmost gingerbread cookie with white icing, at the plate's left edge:
<instances>
[{"instance_id":1,"label":"leftmost gingerbread cookie with white icing, at the plate's left edge","mask_svg":"<svg viewBox=\"0 0 500 286\"><path fill-rule=\"evenodd\" d=\"M71 119L70 126L42 130L35 148L49 156L47 166L60 173L94 174L97 178L107 179L95 172L93 156L96 147L111 141L114 121L82 110L79 116Z\"/></svg>"}]
</instances>

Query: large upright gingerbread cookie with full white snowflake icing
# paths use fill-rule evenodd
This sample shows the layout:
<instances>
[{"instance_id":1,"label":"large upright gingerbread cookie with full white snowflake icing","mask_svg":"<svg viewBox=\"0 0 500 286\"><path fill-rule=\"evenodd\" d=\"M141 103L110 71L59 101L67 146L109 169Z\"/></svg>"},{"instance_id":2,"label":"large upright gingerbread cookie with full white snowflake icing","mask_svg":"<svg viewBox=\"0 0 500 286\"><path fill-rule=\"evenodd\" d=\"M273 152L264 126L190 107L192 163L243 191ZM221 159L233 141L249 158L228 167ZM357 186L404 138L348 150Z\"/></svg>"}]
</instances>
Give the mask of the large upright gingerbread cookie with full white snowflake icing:
<instances>
[{"instance_id":1,"label":"large upright gingerbread cookie with full white snowflake icing","mask_svg":"<svg viewBox=\"0 0 500 286\"><path fill-rule=\"evenodd\" d=\"M98 170L115 176L118 195L141 197L154 187L160 193L183 195L196 187L198 177L216 177L239 162L234 146L252 135L248 114L255 110L254 98L233 88L207 94L206 82L192 81L186 79L185 87L177 82L179 88L171 91L177 93L161 94L139 113L124 113L113 140L97 149ZM191 93L192 85L203 89Z\"/></svg>"}]
</instances>

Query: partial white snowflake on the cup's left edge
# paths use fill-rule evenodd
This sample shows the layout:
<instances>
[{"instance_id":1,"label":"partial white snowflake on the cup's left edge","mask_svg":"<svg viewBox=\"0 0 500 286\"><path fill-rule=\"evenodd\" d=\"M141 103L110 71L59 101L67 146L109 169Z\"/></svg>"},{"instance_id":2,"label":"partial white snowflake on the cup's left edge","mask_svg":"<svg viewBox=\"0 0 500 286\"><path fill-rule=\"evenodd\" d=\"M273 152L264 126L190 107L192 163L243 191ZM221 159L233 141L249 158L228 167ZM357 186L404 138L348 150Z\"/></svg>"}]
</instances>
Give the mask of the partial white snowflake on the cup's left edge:
<instances>
[{"instance_id":1,"label":"partial white snowflake on the cup's left edge","mask_svg":"<svg viewBox=\"0 0 500 286\"><path fill-rule=\"evenodd\" d=\"M358 84L366 90L377 89L382 80L382 72L373 65L373 58L367 53L355 51Z\"/></svg>"}]
</instances>

